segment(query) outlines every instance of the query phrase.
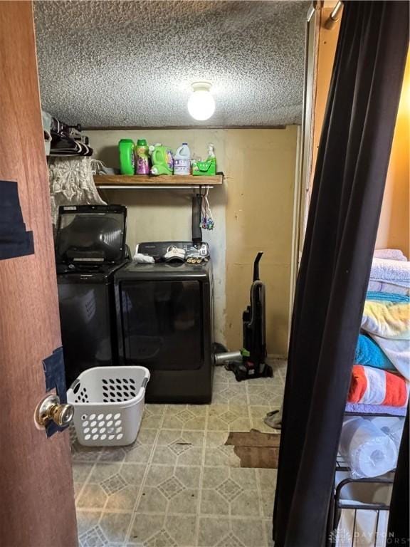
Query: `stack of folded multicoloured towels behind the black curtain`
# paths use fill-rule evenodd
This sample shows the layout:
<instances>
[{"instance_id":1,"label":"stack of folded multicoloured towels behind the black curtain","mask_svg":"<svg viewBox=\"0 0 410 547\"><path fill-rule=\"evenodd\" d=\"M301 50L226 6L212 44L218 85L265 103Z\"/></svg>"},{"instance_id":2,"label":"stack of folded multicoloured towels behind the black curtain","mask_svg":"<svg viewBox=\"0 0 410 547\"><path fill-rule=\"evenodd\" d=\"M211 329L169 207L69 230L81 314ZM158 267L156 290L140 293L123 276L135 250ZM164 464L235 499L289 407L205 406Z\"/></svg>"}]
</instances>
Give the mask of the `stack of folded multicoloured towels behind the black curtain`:
<instances>
[{"instance_id":1,"label":"stack of folded multicoloured towels behind the black curtain","mask_svg":"<svg viewBox=\"0 0 410 547\"><path fill-rule=\"evenodd\" d=\"M406 406L410 380L409 294L410 262L403 253L396 249L375 251L348 402Z\"/></svg>"}]
</instances>

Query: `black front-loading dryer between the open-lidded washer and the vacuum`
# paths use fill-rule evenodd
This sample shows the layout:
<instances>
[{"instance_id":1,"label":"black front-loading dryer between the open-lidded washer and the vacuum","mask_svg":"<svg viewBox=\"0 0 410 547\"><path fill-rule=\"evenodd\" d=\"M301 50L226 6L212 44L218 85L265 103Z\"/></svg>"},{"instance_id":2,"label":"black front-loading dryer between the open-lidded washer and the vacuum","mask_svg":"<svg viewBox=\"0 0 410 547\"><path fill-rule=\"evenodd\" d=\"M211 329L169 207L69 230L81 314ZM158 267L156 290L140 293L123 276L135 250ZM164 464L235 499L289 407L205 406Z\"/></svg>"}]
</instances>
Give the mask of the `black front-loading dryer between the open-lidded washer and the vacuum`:
<instances>
[{"instance_id":1,"label":"black front-loading dryer between the open-lidded washer and the vacuum","mask_svg":"<svg viewBox=\"0 0 410 547\"><path fill-rule=\"evenodd\" d=\"M159 260L169 246L209 256L206 243L144 243L141 254ZM115 272L120 363L151 373L148 402L207 403L214 358L211 261L201 264L136 264Z\"/></svg>"}]
</instances>

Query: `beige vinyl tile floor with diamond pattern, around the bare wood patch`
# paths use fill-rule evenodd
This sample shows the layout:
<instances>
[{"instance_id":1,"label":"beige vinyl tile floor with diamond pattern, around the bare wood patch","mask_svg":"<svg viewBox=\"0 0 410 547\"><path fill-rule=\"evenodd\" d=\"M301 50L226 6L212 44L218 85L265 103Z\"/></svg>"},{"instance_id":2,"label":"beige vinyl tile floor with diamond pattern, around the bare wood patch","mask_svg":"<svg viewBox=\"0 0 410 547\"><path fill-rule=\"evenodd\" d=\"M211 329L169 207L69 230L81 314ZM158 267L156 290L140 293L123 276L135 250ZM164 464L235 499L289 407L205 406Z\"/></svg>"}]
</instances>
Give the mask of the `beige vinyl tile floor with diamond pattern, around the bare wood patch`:
<instances>
[{"instance_id":1,"label":"beige vinyl tile floor with diamond pattern, around the bare wood patch","mask_svg":"<svg viewBox=\"0 0 410 547\"><path fill-rule=\"evenodd\" d=\"M283 398L273 378L215 369L211 405L145 405L128 447L72 445L80 547L268 547L276 469L246 469L228 432L263 423Z\"/></svg>"}]
</instances>

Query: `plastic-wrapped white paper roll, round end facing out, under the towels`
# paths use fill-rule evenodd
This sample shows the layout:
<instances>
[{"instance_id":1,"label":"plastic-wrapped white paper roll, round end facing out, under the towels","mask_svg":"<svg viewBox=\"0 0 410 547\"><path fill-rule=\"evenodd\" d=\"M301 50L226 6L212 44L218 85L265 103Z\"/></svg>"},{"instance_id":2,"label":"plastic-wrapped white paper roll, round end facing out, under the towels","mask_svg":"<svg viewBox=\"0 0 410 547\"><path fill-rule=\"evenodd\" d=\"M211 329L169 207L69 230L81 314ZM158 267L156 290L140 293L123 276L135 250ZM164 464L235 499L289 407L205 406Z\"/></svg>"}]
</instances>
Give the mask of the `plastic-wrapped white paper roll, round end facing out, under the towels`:
<instances>
[{"instance_id":1,"label":"plastic-wrapped white paper roll, round end facing out, under the towels","mask_svg":"<svg viewBox=\"0 0 410 547\"><path fill-rule=\"evenodd\" d=\"M356 477L383 475L397 463L397 449L391 438L362 417L343 423L340 453Z\"/></svg>"}]
</instances>

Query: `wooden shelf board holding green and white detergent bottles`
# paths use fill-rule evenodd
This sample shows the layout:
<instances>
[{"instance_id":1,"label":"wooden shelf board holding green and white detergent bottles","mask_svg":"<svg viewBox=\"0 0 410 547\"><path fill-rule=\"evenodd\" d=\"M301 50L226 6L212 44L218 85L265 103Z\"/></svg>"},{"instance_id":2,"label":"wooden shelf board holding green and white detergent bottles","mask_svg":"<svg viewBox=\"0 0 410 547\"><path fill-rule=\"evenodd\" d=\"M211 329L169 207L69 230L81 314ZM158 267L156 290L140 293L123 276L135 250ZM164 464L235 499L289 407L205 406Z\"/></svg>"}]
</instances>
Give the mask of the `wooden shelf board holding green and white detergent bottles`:
<instances>
[{"instance_id":1,"label":"wooden shelf board holding green and white detergent bottles","mask_svg":"<svg viewBox=\"0 0 410 547\"><path fill-rule=\"evenodd\" d=\"M144 174L95 174L95 185L98 187L105 186L214 186L215 184L223 184L224 175L216 174L214 177L206 177L193 174L161 174L158 177L150 177Z\"/></svg>"}]
</instances>

